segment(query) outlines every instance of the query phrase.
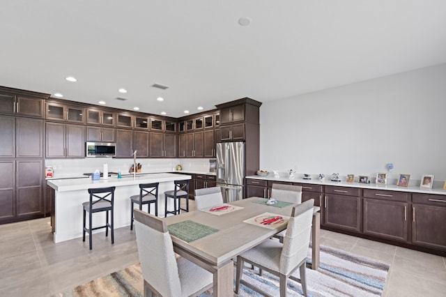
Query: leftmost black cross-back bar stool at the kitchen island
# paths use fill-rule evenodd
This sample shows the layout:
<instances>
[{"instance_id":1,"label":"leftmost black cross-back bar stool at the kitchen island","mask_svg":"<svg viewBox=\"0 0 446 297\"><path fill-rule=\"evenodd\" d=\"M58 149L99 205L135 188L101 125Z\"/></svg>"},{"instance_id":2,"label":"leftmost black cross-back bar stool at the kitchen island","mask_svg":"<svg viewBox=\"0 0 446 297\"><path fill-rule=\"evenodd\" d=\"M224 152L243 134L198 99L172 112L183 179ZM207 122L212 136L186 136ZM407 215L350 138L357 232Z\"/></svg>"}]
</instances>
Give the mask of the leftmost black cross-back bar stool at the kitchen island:
<instances>
[{"instance_id":1,"label":"leftmost black cross-back bar stool at the kitchen island","mask_svg":"<svg viewBox=\"0 0 446 297\"><path fill-rule=\"evenodd\" d=\"M112 231L112 244L114 243L114 232L113 232L113 205L114 205L114 190L116 187L109 188L95 188L89 189L90 201L86 201L82 204L84 207L84 231L82 236L82 241L85 241L85 232L89 232L90 250L93 248L93 239L91 232L96 229L105 228L105 236L109 236L109 228ZM98 199L94 200L93 199ZM89 227L86 227L86 212L89 212ZM100 211L105 211L105 225L100 227L92 227L92 215L93 213L98 213ZM109 223L109 211L112 214L111 222Z\"/></svg>"}]
</instances>

